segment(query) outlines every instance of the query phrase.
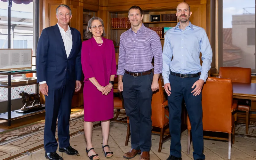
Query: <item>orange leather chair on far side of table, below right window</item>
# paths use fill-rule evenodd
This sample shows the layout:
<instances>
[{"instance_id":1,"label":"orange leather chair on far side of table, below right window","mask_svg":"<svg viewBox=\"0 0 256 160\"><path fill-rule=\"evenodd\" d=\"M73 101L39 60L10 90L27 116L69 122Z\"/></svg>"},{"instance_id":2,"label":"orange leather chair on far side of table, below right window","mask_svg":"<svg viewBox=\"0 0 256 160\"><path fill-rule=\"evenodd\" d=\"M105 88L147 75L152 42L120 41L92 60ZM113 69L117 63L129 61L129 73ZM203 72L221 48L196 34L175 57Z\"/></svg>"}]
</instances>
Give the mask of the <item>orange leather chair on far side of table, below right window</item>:
<instances>
[{"instance_id":1,"label":"orange leather chair on far side of table, below right window","mask_svg":"<svg viewBox=\"0 0 256 160\"><path fill-rule=\"evenodd\" d=\"M251 83L251 68L241 67L220 67L219 76L221 78L229 78L232 82L237 83ZM248 134L249 130L249 112L251 110L250 100L238 100L237 110L245 111L245 133Z\"/></svg>"}]
</instances>

